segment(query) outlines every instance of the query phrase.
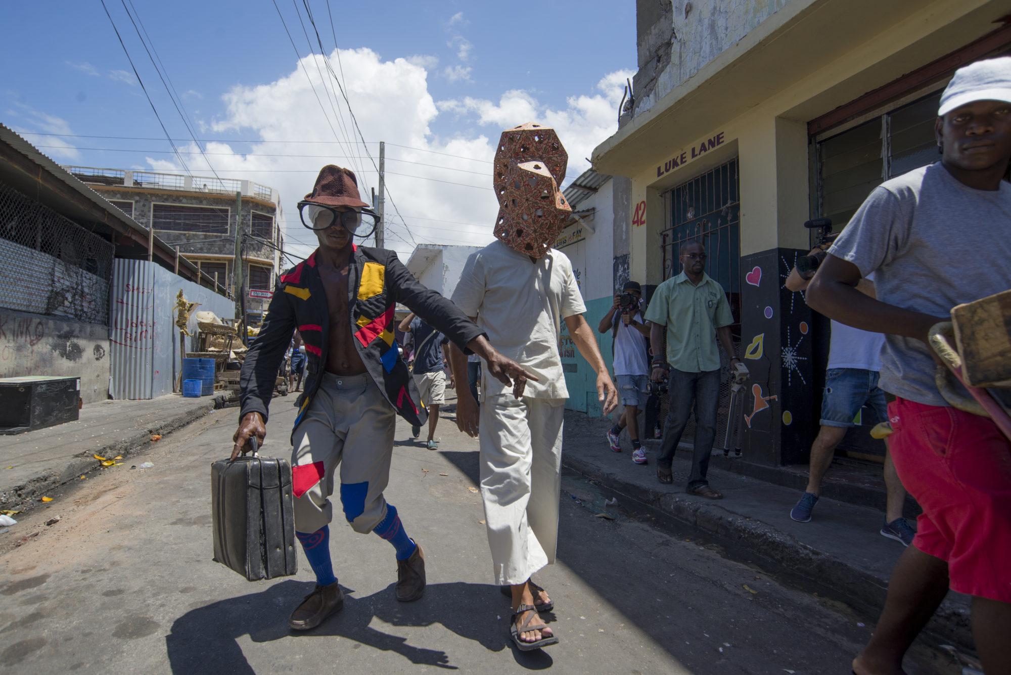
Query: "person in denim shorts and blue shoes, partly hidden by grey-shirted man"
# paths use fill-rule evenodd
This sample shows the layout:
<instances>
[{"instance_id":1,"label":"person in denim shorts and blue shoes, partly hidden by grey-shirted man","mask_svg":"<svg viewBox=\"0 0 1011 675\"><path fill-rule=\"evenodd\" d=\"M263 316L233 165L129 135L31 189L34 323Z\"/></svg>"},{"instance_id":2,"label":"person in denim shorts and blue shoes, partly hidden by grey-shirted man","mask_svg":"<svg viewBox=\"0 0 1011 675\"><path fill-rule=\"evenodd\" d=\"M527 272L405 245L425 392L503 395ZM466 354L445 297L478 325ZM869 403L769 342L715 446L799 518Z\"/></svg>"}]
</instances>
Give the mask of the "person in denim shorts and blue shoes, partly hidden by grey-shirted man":
<instances>
[{"instance_id":1,"label":"person in denim shorts and blue shoes, partly hidden by grey-shirted man","mask_svg":"<svg viewBox=\"0 0 1011 675\"><path fill-rule=\"evenodd\" d=\"M821 248L811 253L821 252ZM787 278L787 288L803 291L811 283L812 273L804 278L795 268ZM863 293L875 296L874 275L861 279L858 286ZM832 342L828 353L828 367L825 369L825 395L822 398L821 428L811 446L811 463L808 469L808 486L804 494L790 511L790 517L798 522L810 522L821 493L821 481L832 465L836 447L846 436L850 426L856 426L854 418L867 405L875 411L875 423L888 420L888 403L885 392L878 386L882 369L881 351L885 343L883 333L867 332L837 321L832 321ZM899 474L892 462L892 455L885 451L885 523L883 537L894 539L903 546L909 546L916 531L902 517L902 506L906 500L906 488L899 480Z\"/></svg>"}]
</instances>

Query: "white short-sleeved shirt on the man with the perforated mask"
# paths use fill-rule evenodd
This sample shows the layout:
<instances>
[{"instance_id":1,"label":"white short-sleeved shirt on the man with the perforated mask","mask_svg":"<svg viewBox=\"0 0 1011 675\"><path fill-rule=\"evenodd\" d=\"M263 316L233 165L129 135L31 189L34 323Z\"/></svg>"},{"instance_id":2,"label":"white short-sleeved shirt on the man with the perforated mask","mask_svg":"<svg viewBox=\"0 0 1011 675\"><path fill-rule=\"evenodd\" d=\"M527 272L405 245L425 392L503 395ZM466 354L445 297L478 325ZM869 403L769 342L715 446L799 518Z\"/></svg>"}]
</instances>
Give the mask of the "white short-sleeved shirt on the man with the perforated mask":
<instances>
[{"instance_id":1,"label":"white short-sleeved shirt on the man with the perforated mask","mask_svg":"<svg viewBox=\"0 0 1011 675\"><path fill-rule=\"evenodd\" d=\"M527 382L524 396L568 398L558 350L561 321L584 313L586 306L565 254L551 249L531 261L495 240L467 259L452 299L467 316L477 317L492 347L539 378ZM485 395L511 391L486 372Z\"/></svg>"}]
</instances>

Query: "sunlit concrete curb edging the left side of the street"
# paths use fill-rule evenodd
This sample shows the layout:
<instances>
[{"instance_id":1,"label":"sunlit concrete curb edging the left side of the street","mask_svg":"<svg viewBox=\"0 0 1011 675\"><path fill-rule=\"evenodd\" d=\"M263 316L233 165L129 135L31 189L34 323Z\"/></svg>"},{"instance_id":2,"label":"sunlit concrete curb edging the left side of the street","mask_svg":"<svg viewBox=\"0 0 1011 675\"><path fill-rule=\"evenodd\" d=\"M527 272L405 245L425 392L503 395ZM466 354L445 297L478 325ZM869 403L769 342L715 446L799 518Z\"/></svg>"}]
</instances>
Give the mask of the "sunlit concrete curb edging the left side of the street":
<instances>
[{"instance_id":1,"label":"sunlit concrete curb edging the left side of the street","mask_svg":"<svg viewBox=\"0 0 1011 675\"><path fill-rule=\"evenodd\" d=\"M129 436L113 443L106 444L97 449L88 450L71 460L71 462L64 467L49 468L43 470L42 473L37 476L29 478L28 480L17 485L0 488L0 492L2 492L6 497L6 501L3 502L3 507L5 509L13 509L23 512L40 505L38 498L43 494L66 485L78 476L87 475L88 473L98 469L101 466L101 462L96 460L93 455L100 455L110 459L117 455L121 455L125 459L126 457L129 457L131 453L141 450L145 446L151 445L152 436L156 433L166 436L176 429L186 426L190 422L196 421L211 410L224 407L231 393L232 392L226 392L225 394L214 395L206 401L201 401L199 406L180 412L157 424L136 429Z\"/></svg>"}]
</instances>

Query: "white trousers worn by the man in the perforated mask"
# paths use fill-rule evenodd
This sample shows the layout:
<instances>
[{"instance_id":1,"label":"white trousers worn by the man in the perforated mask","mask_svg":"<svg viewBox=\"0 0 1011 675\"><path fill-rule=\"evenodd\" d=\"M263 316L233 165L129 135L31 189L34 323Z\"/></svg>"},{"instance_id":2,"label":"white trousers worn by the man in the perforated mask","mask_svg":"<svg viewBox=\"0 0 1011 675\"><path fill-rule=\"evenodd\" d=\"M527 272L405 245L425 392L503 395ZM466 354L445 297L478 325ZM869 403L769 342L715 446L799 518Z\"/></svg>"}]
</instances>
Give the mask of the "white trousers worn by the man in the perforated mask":
<instances>
[{"instance_id":1,"label":"white trousers worn by the man in the perforated mask","mask_svg":"<svg viewBox=\"0 0 1011 675\"><path fill-rule=\"evenodd\" d=\"M565 399L487 396L481 403L481 498L498 585L555 562Z\"/></svg>"}]
</instances>

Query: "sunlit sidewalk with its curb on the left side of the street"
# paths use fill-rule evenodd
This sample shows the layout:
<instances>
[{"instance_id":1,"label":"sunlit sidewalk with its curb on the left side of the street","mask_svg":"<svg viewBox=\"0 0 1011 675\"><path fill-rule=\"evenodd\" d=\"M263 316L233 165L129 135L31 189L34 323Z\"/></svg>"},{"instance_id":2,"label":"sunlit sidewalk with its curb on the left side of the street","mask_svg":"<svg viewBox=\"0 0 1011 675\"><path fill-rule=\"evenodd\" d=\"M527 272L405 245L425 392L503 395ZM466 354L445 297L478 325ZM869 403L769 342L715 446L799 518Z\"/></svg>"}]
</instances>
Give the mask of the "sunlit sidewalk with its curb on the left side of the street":
<instances>
[{"instance_id":1,"label":"sunlit sidewalk with its curb on the left side of the street","mask_svg":"<svg viewBox=\"0 0 1011 675\"><path fill-rule=\"evenodd\" d=\"M102 401L81 409L77 421L0 436L0 504L25 510L47 491L100 466L93 456L127 457L151 443L155 433L169 433L202 417L229 398L232 392L183 398L169 394L140 401Z\"/></svg>"}]
</instances>

